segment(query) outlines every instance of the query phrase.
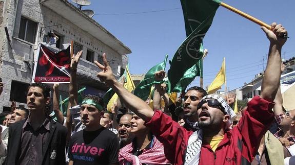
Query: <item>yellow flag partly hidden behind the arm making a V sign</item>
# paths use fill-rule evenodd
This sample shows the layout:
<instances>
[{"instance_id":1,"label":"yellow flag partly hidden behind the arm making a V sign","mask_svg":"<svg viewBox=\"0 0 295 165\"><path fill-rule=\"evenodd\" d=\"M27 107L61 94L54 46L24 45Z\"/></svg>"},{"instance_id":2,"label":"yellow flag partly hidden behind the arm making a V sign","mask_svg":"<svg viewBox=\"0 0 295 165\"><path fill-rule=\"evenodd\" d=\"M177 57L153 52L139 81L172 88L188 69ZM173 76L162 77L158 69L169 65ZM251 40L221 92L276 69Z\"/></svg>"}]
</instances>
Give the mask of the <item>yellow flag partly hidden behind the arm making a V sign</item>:
<instances>
[{"instance_id":1,"label":"yellow flag partly hidden behind the arm making a V sign","mask_svg":"<svg viewBox=\"0 0 295 165\"><path fill-rule=\"evenodd\" d=\"M131 79L131 76L130 76L130 73L129 73L129 70L128 70L128 67L126 66L126 83L124 84L124 87L128 90L128 91L132 91L134 90L135 88L135 85ZM114 103L117 102L117 99L118 99L118 96L117 94L115 93L113 95L113 97L110 99L110 101L108 102L108 105L107 105L107 109L108 111L111 111L111 108L112 106L114 106Z\"/></svg>"}]
</instances>

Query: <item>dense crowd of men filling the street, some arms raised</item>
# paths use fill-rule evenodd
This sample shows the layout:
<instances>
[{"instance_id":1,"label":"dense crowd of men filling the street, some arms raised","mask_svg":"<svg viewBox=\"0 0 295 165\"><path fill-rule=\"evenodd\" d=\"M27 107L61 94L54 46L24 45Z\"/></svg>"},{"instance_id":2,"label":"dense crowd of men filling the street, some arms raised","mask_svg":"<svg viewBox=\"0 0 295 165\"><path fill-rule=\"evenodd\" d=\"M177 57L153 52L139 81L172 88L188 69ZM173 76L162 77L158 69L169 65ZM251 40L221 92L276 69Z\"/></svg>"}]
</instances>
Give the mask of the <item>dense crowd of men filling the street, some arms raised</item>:
<instances>
[{"instance_id":1,"label":"dense crowd of men filling the street, some arms raised","mask_svg":"<svg viewBox=\"0 0 295 165\"><path fill-rule=\"evenodd\" d=\"M66 117L59 109L58 84L50 100L43 83L29 86L28 108L13 102L11 112L1 114L0 164L295 164L295 109L284 110L280 90L287 31L276 23L262 30L270 46L261 95L238 115L230 107L232 97L207 95L196 86L173 103L165 85L155 84L150 107L115 79L105 54L103 64L95 61L101 69L97 77L117 93L116 104L107 111L96 95L79 103L78 52L71 59ZM165 75L161 70L155 80ZM0 83L0 95L3 88Z\"/></svg>"}]
</instances>

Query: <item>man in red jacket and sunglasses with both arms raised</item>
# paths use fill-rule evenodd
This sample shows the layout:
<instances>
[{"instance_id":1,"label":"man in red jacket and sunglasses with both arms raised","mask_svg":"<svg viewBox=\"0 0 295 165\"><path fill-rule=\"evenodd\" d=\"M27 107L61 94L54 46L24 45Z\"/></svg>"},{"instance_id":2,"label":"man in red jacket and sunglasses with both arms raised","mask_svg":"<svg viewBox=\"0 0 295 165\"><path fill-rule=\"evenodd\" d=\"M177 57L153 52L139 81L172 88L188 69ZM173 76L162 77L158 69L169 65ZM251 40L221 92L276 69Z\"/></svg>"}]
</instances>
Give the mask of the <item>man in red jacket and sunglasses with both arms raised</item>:
<instances>
[{"instance_id":1,"label":"man in red jacket and sunglasses with both arms raised","mask_svg":"<svg viewBox=\"0 0 295 165\"><path fill-rule=\"evenodd\" d=\"M173 164L250 164L257 152L260 140L273 121L273 100L280 84L281 49L286 42L287 31L272 23L271 30L262 27L270 41L268 62L262 81L261 97L249 103L237 127L226 129L230 120L227 103L216 95L209 95L196 106L198 124L203 131L202 146L198 136L172 121L159 110L153 111L144 101L126 90L113 76L103 55L104 65L95 61L102 71L97 74L110 85L125 105L141 117L147 127L164 144L165 155ZM201 150L201 153L200 153Z\"/></svg>"}]
</instances>

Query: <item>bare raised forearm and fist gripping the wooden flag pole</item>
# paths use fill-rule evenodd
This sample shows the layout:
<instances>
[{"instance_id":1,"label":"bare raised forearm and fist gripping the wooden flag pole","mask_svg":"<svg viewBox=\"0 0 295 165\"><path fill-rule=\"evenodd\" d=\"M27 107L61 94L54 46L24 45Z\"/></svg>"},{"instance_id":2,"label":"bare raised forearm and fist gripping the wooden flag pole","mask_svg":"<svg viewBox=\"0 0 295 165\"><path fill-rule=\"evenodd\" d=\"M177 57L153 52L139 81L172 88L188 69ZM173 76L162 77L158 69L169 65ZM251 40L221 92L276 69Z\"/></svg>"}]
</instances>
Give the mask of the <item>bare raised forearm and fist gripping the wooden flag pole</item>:
<instances>
[{"instance_id":1,"label":"bare raised forearm and fist gripping the wooden flag pole","mask_svg":"<svg viewBox=\"0 0 295 165\"><path fill-rule=\"evenodd\" d=\"M261 98L273 101L280 86L281 51L286 42L287 30L277 23L271 24L271 30L261 28L270 41L266 69L262 79Z\"/></svg>"}]
</instances>

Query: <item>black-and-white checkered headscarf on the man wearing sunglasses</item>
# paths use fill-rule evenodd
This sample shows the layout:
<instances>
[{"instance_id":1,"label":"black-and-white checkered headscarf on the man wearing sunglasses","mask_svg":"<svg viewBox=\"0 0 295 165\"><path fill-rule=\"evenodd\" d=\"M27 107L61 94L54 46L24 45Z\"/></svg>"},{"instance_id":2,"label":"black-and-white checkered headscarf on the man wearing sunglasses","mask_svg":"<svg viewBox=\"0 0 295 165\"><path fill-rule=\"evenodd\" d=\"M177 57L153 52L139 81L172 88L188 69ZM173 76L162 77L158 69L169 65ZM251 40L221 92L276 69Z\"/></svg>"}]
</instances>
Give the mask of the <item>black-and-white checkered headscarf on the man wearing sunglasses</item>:
<instances>
[{"instance_id":1,"label":"black-and-white checkered headscarf on the man wearing sunglasses","mask_svg":"<svg viewBox=\"0 0 295 165\"><path fill-rule=\"evenodd\" d=\"M236 116L234 111L230 108L230 106L226 103L226 101L218 95L207 95L202 98L202 101L207 99L215 99L219 103L221 103L221 106L224 108L225 113L228 114L230 117L230 120L226 123L226 129L228 129L233 121L233 118Z\"/></svg>"}]
</instances>

